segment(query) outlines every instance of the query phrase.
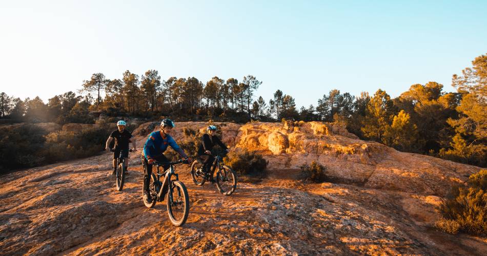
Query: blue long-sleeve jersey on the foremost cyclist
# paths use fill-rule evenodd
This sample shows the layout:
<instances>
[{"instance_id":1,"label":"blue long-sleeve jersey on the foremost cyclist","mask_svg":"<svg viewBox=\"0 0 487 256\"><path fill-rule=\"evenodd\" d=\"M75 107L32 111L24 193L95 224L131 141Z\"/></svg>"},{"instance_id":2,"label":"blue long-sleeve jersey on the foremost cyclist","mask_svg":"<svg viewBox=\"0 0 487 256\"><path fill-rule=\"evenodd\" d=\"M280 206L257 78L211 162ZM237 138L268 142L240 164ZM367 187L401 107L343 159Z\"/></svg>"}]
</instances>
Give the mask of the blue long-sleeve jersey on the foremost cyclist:
<instances>
[{"instance_id":1,"label":"blue long-sleeve jersey on the foremost cyclist","mask_svg":"<svg viewBox=\"0 0 487 256\"><path fill-rule=\"evenodd\" d=\"M176 151L181 157L188 157L184 150L179 147L179 145L170 135L166 135L166 138L163 138L160 131L152 132L149 135L146 143L144 144L142 155L149 160L162 155L167 150L168 146L171 146L173 150Z\"/></svg>"}]
</instances>

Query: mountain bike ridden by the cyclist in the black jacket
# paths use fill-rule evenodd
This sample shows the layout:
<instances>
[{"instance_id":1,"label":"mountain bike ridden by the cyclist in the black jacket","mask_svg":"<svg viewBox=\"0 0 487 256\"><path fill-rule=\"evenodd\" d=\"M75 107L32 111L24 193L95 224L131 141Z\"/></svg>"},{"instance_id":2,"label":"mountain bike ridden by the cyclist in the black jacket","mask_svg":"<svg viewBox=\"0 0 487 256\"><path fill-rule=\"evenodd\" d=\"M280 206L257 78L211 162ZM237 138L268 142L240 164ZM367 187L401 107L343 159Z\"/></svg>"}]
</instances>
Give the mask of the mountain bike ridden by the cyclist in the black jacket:
<instances>
[{"instance_id":1,"label":"mountain bike ridden by the cyclist in the black jacket","mask_svg":"<svg viewBox=\"0 0 487 256\"><path fill-rule=\"evenodd\" d=\"M193 182L198 186L202 186L206 181L210 181L213 178L217 167L216 187L221 194L230 196L237 188L237 174L232 168L223 163L223 158L219 155L215 157L208 172L203 170L203 161L201 159L193 161L193 164L191 164L191 177L193 178Z\"/></svg>"}]
</instances>

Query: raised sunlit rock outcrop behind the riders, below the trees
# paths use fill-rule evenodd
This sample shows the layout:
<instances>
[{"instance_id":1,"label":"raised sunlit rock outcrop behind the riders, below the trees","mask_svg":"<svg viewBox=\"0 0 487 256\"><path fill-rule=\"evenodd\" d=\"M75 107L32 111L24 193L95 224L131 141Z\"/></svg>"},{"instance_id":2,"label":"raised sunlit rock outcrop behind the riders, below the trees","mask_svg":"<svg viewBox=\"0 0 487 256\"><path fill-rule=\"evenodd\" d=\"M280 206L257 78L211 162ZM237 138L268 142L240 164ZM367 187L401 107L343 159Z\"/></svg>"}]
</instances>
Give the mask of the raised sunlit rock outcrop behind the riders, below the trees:
<instances>
[{"instance_id":1,"label":"raised sunlit rock outcrop behind the riders, below the trees","mask_svg":"<svg viewBox=\"0 0 487 256\"><path fill-rule=\"evenodd\" d=\"M206 122L178 122L172 136L181 139L185 129L204 133ZM371 188L415 191L444 196L449 188L463 183L480 168L434 157L404 153L373 141L359 140L330 123L291 122L247 124L221 123L222 141L233 150L258 151L269 161L269 169L299 169L317 161L326 166L334 181ZM158 131L148 122L134 131L138 135Z\"/></svg>"}]
</instances>

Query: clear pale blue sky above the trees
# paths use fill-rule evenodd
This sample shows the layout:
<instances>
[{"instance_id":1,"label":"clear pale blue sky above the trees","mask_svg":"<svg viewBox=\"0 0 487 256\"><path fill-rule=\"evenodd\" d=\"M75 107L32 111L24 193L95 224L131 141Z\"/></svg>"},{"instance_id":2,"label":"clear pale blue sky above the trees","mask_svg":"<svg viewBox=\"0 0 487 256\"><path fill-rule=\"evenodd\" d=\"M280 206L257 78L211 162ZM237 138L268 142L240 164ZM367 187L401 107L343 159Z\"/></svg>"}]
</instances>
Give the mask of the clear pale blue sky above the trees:
<instances>
[{"instance_id":1,"label":"clear pale blue sky above the trees","mask_svg":"<svg viewBox=\"0 0 487 256\"><path fill-rule=\"evenodd\" d=\"M148 69L263 83L298 106L331 89L391 96L451 76L487 53L487 1L3 1L0 91L80 88L92 73Z\"/></svg>"}]
</instances>

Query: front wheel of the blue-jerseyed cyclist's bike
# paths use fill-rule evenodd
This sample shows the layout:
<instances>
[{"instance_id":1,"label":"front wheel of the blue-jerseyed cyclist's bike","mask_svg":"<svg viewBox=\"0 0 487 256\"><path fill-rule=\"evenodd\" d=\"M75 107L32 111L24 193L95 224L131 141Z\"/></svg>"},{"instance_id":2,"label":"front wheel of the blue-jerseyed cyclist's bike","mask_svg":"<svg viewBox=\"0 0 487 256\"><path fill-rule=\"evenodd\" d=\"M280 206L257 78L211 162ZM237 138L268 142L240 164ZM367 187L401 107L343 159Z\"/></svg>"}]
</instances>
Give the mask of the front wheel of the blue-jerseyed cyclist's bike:
<instances>
[{"instance_id":1,"label":"front wheel of the blue-jerseyed cyclist's bike","mask_svg":"<svg viewBox=\"0 0 487 256\"><path fill-rule=\"evenodd\" d=\"M172 224L177 227L185 224L189 214L189 196L184 183L172 182L172 189L168 191L166 203Z\"/></svg>"}]
</instances>

